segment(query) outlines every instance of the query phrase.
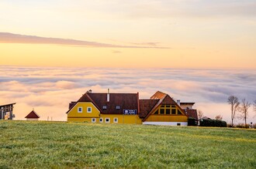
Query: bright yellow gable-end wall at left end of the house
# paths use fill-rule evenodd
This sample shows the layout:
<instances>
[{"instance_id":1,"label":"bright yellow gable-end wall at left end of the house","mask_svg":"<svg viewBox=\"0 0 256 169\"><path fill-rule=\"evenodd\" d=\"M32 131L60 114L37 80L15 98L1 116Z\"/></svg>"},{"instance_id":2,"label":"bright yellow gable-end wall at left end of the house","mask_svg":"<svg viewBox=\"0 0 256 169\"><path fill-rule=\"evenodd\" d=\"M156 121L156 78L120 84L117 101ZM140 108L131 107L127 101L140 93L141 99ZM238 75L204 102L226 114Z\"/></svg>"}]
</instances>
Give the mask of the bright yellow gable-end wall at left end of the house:
<instances>
[{"instance_id":1,"label":"bright yellow gable-end wall at left end of the house","mask_svg":"<svg viewBox=\"0 0 256 169\"><path fill-rule=\"evenodd\" d=\"M78 113L78 107L82 108L82 113ZM87 108L92 107L92 113L87 112ZM99 110L91 102L81 102L77 103L70 111L67 113L67 121L76 122L92 122L92 118L99 119Z\"/></svg>"}]
</instances>

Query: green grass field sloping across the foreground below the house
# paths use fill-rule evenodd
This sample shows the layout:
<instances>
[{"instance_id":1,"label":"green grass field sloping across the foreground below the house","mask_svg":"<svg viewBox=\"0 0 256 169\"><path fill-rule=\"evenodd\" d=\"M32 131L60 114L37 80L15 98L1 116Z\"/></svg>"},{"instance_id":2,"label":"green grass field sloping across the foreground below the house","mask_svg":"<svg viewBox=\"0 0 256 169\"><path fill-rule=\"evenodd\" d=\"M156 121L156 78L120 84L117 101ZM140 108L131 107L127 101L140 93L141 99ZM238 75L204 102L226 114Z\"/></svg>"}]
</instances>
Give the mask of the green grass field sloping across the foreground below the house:
<instances>
[{"instance_id":1,"label":"green grass field sloping across the foreground below the house","mask_svg":"<svg viewBox=\"0 0 256 169\"><path fill-rule=\"evenodd\" d=\"M0 121L0 168L256 168L256 130Z\"/></svg>"}]
</instances>

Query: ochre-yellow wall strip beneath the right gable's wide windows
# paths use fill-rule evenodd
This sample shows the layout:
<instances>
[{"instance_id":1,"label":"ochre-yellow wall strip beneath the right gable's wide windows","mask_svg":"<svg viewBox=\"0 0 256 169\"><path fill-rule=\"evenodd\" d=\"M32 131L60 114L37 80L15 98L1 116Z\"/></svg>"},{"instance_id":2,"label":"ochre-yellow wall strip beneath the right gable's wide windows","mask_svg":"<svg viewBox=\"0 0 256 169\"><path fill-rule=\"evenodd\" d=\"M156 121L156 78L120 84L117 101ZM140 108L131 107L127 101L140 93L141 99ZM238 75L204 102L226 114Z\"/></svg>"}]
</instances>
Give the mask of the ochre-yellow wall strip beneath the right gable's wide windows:
<instances>
[{"instance_id":1,"label":"ochre-yellow wall strip beneath the right gable's wide windows","mask_svg":"<svg viewBox=\"0 0 256 169\"><path fill-rule=\"evenodd\" d=\"M185 115L150 115L146 121L187 122L188 117Z\"/></svg>"}]
</instances>

